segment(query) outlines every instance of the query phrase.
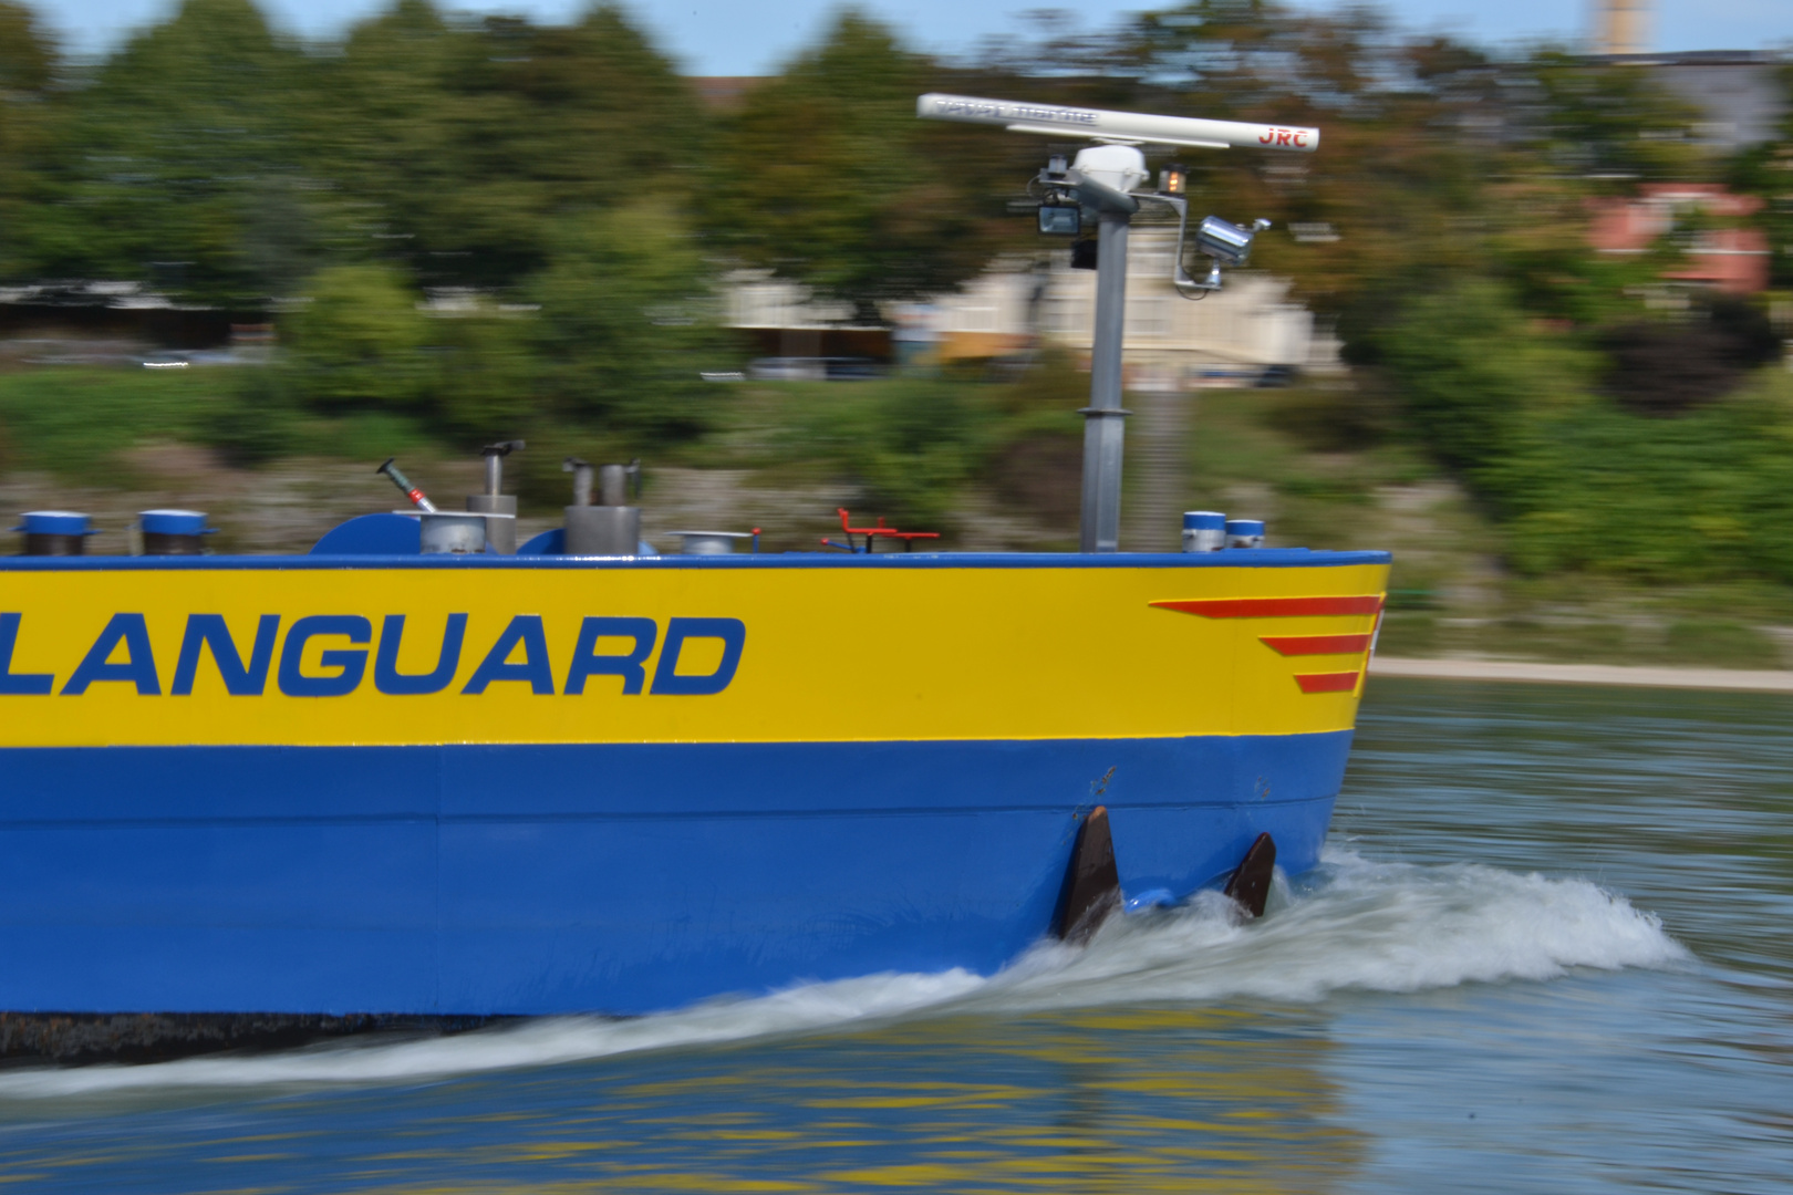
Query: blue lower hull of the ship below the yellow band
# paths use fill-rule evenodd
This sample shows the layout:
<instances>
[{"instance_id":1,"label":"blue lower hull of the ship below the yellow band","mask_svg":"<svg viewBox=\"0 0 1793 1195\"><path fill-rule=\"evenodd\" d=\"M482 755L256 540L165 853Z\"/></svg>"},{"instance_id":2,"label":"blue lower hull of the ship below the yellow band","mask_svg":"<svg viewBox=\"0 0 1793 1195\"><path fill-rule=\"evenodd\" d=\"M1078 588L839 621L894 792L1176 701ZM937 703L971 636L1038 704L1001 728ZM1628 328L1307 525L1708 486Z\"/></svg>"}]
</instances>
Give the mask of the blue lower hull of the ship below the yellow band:
<instances>
[{"instance_id":1,"label":"blue lower hull of the ship below the yellow band","mask_svg":"<svg viewBox=\"0 0 1793 1195\"><path fill-rule=\"evenodd\" d=\"M1350 731L1018 742L11 747L0 1009L645 1012L1045 935L1320 853Z\"/></svg>"}]
</instances>

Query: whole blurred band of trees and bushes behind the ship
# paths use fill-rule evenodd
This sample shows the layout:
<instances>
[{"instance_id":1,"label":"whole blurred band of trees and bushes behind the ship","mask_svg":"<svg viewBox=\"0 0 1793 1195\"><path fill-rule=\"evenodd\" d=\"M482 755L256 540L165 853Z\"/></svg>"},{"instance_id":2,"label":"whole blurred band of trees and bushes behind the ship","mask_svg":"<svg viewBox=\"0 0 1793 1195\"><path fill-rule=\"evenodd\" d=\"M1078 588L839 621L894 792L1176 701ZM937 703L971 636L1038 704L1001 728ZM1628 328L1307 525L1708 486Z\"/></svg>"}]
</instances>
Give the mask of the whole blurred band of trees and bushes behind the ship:
<instances>
[{"instance_id":1,"label":"whole blurred band of trees and bushes behind the ship","mask_svg":"<svg viewBox=\"0 0 1793 1195\"><path fill-rule=\"evenodd\" d=\"M1284 532L1341 541L1429 459L1526 573L1793 582L1786 380L1734 391L1763 353L1714 349L1702 373L1696 340L1716 333L1642 310L1675 244L1587 244L1594 202L1719 177L1693 113L1646 70L1555 50L1494 63L1363 7L1192 0L975 66L845 11L717 115L608 4L536 25L393 0L307 50L253 0L183 0L90 66L0 0L0 274L287 312L267 369L0 378L0 430L65 469L145 439L238 464L543 432L611 459L701 457L757 401L699 380L741 364L721 272L767 267L877 321L886 299L1040 247L1006 202L1049 143L920 122L927 90L1325 131L1314 156L1178 154L1201 206L1277 222L1253 265L1293 276L1366 365L1348 391L1201 400L1203 419L1241 408L1203 425L1200 477L1257 486ZM1764 201L1750 219L1782 285L1789 145L1793 116L1728 170ZM1703 389L1680 401L1671 373ZM974 482L1069 520L1085 389L1052 355L1006 385L782 387L771 439L891 520L943 525ZM1312 455L1278 482L1289 439ZM1345 453L1366 464L1325 462ZM565 478L540 469L558 503Z\"/></svg>"}]
</instances>

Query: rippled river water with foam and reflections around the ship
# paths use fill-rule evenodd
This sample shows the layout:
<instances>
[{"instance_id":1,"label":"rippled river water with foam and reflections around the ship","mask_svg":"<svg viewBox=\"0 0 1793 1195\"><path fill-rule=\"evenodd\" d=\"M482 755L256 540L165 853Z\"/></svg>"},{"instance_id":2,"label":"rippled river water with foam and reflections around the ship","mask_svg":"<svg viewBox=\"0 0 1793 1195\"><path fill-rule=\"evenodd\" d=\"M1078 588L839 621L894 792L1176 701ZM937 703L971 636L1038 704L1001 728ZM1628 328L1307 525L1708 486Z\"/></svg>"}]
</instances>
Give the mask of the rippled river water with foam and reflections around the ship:
<instances>
[{"instance_id":1,"label":"rippled river water with foam and reflections around the ship","mask_svg":"<svg viewBox=\"0 0 1793 1195\"><path fill-rule=\"evenodd\" d=\"M1793 699L1379 679L1327 862L1264 921L5 1071L0 1188L1793 1190Z\"/></svg>"}]
</instances>

